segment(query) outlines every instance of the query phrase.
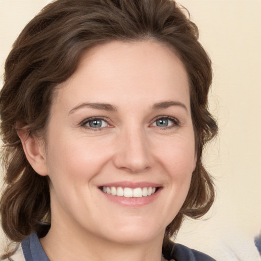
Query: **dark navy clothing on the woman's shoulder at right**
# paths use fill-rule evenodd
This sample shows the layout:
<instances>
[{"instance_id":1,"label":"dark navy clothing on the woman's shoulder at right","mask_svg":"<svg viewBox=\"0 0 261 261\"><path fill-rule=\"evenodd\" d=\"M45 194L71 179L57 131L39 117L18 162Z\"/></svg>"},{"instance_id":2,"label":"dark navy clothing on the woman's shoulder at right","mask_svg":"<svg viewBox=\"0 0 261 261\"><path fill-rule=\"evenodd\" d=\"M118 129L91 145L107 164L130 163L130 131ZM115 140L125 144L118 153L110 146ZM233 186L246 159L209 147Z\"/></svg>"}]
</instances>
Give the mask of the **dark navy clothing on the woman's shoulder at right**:
<instances>
[{"instance_id":1,"label":"dark navy clothing on the woman's shoulder at right","mask_svg":"<svg viewBox=\"0 0 261 261\"><path fill-rule=\"evenodd\" d=\"M173 245L171 257L174 258L175 261L215 261L215 259L209 255L177 243Z\"/></svg>"}]
</instances>

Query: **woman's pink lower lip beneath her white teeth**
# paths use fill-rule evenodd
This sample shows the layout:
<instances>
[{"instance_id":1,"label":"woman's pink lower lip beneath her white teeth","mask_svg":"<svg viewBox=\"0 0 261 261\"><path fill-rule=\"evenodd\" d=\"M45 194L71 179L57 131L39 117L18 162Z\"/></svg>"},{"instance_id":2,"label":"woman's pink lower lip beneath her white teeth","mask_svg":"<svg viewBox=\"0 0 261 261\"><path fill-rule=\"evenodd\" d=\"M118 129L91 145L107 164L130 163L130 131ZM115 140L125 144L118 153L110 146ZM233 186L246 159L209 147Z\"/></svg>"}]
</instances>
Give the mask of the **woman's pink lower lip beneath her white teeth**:
<instances>
[{"instance_id":1,"label":"woman's pink lower lip beneath her white teeth","mask_svg":"<svg viewBox=\"0 0 261 261\"><path fill-rule=\"evenodd\" d=\"M101 193L106 196L109 200L118 203L123 206L144 206L147 204L152 203L160 194L161 189L158 189L154 194L146 197L140 197L140 198L134 198L134 197L123 197L123 196L113 196L108 193L104 193L101 191Z\"/></svg>"}]
</instances>

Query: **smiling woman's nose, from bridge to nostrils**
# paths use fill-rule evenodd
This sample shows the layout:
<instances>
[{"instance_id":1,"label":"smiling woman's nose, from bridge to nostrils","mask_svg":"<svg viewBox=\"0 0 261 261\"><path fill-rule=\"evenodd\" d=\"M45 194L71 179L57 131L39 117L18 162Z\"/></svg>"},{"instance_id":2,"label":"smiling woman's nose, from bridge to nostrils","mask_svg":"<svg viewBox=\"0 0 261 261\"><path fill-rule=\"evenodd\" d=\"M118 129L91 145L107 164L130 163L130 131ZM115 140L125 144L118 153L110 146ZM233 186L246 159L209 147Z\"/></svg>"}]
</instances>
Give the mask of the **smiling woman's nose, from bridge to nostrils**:
<instances>
[{"instance_id":1,"label":"smiling woman's nose, from bridge to nostrils","mask_svg":"<svg viewBox=\"0 0 261 261\"><path fill-rule=\"evenodd\" d=\"M115 144L115 166L130 173L148 170L152 164L152 157L148 139L142 129L128 129L120 136Z\"/></svg>"}]
</instances>

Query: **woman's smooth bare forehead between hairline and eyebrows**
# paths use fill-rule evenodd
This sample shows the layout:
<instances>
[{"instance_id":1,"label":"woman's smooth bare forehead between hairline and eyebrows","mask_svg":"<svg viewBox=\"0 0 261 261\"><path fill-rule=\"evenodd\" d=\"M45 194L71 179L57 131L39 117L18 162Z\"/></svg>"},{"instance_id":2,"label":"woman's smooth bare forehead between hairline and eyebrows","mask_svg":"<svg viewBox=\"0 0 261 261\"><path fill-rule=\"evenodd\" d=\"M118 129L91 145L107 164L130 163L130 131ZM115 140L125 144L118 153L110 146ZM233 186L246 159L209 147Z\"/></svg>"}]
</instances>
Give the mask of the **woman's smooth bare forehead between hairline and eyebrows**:
<instances>
[{"instance_id":1,"label":"woman's smooth bare forehead between hairline and eyebrows","mask_svg":"<svg viewBox=\"0 0 261 261\"><path fill-rule=\"evenodd\" d=\"M92 47L60 87L57 99L71 106L86 101L124 106L144 99L153 103L175 99L189 107L184 65L170 47L155 41L113 41Z\"/></svg>"}]
</instances>

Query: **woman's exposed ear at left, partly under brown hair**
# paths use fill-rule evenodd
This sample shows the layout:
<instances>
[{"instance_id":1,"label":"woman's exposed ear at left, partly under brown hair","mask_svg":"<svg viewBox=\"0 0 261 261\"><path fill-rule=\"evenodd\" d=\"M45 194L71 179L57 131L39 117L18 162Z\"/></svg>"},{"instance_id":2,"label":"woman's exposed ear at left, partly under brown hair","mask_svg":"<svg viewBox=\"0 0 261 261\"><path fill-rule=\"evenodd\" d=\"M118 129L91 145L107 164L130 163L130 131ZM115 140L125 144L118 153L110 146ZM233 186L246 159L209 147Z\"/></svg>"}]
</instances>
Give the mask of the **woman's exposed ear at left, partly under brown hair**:
<instances>
[{"instance_id":1,"label":"woman's exposed ear at left, partly under brown hair","mask_svg":"<svg viewBox=\"0 0 261 261\"><path fill-rule=\"evenodd\" d=\"M41 176L47 176L46 152L42 139L30 134L28 129L18 129L23 151L32 168Z\"/></svg>"}]
</instances>

